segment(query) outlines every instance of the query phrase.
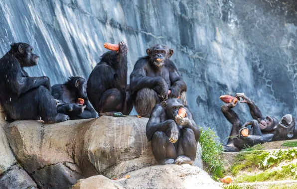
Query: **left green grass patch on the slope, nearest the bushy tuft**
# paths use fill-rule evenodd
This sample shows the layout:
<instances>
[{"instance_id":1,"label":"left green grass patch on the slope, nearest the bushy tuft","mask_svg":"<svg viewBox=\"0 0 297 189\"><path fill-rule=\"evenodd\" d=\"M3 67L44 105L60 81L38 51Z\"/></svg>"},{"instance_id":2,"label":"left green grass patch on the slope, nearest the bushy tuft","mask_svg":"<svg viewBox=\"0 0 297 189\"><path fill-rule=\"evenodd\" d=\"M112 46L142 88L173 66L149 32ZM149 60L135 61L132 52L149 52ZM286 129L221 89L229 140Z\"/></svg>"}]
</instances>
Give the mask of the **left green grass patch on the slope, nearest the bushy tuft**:
<instances>
[{"instance_id":1,"label":"left green grass patch on the slope, nearest the bushy tuft","mask_svg":"<svg viewBox=\"0 0 297 189\"><path fill-rule=\"evenodd\" d=\"M240 171L248 170L252 171L252 167L257 167L260 163L258 155L262 154L263 151L250 151L242 152L234 157L234 162L230 168L232 176L237 175Z\"/></svg>"}]
</instances>

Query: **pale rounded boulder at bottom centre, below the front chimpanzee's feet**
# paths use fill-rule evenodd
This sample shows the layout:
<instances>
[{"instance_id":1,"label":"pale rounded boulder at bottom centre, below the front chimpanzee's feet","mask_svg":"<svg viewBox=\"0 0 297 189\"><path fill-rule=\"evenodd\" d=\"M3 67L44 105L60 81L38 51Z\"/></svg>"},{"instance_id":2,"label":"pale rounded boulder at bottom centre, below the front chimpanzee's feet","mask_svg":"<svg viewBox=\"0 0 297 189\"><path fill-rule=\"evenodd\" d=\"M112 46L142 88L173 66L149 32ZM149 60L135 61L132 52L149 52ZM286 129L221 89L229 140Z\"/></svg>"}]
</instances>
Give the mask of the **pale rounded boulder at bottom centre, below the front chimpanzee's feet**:
<instances>
[{"instance_id":1,"label":"pale rounded boulder at bottom centre, below the front chimpanzee's feet","mask_svg":"<svg viewBox=\"0 0 297 189\"><path fill-rule=\"evenodd\" d=\"M149 166L127 174L130 179L94 176L79 180L72 189L221 189L205 171L188 164Z\"/></svg>"}]
</instances>

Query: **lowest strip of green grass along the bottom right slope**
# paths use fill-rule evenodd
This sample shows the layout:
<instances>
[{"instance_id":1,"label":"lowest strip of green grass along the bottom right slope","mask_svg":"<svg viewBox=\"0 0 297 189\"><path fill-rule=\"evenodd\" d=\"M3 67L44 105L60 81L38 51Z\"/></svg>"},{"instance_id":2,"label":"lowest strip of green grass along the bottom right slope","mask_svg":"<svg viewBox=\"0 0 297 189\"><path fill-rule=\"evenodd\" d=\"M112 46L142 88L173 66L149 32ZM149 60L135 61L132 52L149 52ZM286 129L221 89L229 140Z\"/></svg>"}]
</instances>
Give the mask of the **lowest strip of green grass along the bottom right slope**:
<instances>
[{"instance_id":1,"label":"lowest strip of green grass along the bottom right slope","mask_svg":"<svg viewBox=\"0 0 297 189\"><path fill-rule=\"evenodd\" d=\"M254 182L267 182L267 181L281 181L295 179L295 172L292 172L292 166L296 167L297 164L283 166L282 169L276 171L266 170L256 175L242 175L236 179L237 183L254 183Z\"/></svg>"}]
</instances>

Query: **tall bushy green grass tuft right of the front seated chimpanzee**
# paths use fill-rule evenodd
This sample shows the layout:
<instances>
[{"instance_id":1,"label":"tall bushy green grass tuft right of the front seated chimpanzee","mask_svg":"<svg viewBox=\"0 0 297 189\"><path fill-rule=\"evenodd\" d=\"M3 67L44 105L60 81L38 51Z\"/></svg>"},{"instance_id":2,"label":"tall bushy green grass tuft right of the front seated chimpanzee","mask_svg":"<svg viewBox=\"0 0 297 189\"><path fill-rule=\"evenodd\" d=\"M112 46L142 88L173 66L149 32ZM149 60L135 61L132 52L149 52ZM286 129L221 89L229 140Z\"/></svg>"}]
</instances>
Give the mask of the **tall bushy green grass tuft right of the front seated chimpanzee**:
<instances>
[{"instance_id":1,"label":"tall bushy green grass tuft right of the front seated chimpanzee","mask_svg":"<svg viewBox=\"0 0 297 189\"><path fill-rule=\"evenodd\" d=\"M206 165L205 171L214 178L222 178L225 172L225 161L221 157L223 146L210 128L200 127L200 133L199 143L202 147L202 161Z\"/></svg>"}]
</instances>

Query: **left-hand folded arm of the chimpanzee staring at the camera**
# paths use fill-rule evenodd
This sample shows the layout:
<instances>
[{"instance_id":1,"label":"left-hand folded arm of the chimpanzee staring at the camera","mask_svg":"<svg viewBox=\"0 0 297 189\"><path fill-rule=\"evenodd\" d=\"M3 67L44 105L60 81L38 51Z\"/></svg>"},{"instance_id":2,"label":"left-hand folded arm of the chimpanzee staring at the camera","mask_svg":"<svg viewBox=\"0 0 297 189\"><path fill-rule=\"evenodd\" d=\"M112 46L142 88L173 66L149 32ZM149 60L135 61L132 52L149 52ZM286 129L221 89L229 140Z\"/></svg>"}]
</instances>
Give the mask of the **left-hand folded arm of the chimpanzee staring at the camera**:
<instances>
[{"instance_id":1,"label":"left-hand folded arm of the chimpanzee staring at the camera","mask_svg":"<svg viewBox=\"0 0 297 189\"><path fill-rule=\"evenodd\" d=\"M130 75L130 93L135 94L140 89L143 88L150 88L153 89L154 87L161 85L165 88L166 82L162 77L148 77L146 76L145 67L148 64L148 60L144 57L139 59L135 66L134 70Z\"/></svg>"}]
</instances>

